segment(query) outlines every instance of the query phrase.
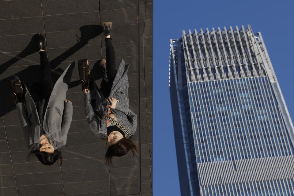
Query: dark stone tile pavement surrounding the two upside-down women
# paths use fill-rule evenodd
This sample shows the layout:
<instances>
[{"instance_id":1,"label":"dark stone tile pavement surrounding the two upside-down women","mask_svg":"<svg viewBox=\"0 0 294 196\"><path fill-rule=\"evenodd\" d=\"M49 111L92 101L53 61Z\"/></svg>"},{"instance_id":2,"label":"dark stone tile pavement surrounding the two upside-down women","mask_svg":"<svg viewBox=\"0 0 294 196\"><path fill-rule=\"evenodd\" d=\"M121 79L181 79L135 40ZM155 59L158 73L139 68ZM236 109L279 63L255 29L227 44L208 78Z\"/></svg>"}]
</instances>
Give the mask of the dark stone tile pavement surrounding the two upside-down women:
<instances>
[{"instance_id":1,"label":"dark stone tile pavement surrounding the two upside-down women","mask_svg":"<svg viewBox=\"0 0 294 196\"><path fill-rule=\"evenodd\" d=\"M28 149L12 103L13 74L29 87L40 79L35 33L46 38L55 82L72 61L88 58L91 68L105 57L102 22L112 21L119 65L130 63L130 109L138 114L129 152L104 163L108 142L85 119L77 62L67 98L74 107L61 166L46 166ZM101 34L102 33L102 34ZM150 0L0 0L0 195L153 195L152 193L153 1ZM93 72L94 73L94 72ZM97 76L96 83L101 79Z\"/></svg>"}]
</instances>

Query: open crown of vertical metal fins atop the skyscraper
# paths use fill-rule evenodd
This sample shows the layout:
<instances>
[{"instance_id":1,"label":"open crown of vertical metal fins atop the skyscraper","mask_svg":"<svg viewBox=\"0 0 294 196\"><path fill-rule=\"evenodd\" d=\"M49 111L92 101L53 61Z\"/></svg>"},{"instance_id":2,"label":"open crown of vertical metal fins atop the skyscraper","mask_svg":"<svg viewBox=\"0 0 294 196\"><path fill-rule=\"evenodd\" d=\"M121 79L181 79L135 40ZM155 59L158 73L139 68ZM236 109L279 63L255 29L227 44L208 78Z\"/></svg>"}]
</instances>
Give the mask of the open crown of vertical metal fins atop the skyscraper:
<instances>
[{"instance_id":1,"label":"open crown of vertical metal fins atop the skyscraper","mask_svg":"<svg viewBox=\"0 0 294 196\"><path fill-rule=\"evenodd\" d=\"M209 32L186 34L182 31L183 47L189 82L263 76L265 67L257 55L254 34L246 29L230 27Z\"/></svg>"}]
</instances>

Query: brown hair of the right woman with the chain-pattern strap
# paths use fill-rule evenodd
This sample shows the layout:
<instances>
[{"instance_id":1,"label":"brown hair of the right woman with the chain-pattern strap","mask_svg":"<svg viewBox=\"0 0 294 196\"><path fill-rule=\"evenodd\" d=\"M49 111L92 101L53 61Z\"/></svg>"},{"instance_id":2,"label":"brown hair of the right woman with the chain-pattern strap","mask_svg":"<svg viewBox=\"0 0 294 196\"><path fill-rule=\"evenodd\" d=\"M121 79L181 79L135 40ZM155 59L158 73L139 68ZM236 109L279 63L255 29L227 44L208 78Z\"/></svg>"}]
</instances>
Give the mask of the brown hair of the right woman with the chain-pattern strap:
<instances>
[{"instance_id":1,"label":"brown hair of the right woman with the chain-pattern strap","mask_svg":"<svg viewBox=\"0 0 294 196\"><path fill-rule=\"evenodd\" d=\"M135 152L138 153L137 146L129 138L122 138L116 144L108 147L105 154L105 163L111 163L111 159L113 156L126 155L129 150L132 150L133 156L136 155Z\"/></svg>"}]
</instances>

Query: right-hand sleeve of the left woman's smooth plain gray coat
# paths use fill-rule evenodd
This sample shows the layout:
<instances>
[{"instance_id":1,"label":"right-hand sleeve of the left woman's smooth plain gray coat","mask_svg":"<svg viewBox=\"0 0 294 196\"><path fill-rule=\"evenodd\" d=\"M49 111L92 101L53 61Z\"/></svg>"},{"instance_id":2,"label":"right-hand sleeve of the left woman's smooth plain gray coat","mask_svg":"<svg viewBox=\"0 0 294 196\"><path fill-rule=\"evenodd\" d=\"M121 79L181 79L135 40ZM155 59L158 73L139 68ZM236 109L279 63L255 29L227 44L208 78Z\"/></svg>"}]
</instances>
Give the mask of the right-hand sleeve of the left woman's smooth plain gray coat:
<instances>
[{"instance_id":1,"label":"right-hand sleeve of the left woman's smooth plain gray coat","mask_svg":"<svg viewBox=\"0 0 294 196\"><path fill-rule=\"evenodd\" d=\"M70 124L72 119L73 119L73 104L71 102L65 102L63 115L62 115L62 123L61 123L61 134L63 137L65 137L65 142L66 142L68 130L70 129Z\"/></svg>"}]
</instances>

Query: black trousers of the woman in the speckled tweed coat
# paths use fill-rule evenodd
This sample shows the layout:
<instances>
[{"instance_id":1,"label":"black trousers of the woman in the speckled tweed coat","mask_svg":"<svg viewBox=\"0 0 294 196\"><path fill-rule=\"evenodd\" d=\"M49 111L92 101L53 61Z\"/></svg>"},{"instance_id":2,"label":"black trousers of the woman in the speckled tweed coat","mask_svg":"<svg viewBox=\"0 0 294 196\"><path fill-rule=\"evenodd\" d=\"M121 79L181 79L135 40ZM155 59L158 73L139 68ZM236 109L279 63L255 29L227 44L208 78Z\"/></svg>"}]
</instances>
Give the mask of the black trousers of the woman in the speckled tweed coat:
<instances>
[{"instance_id":1,"label":"black trousers of the woman in the speckled tweed coat","mask_svg":"<svg viewBox=\"0 0 294 196\"><path fill-rule=\"evenodd\" d=\"M112 87L112 83L114 81L116 75L116 64L115 64L115 51L112 45L112 39L105 39L105 49L106 49L106 70L107 77L103 77L101 81L100 90L103 93L105 98L109 97L109 93Z\"/></svg>"}]
</instances>

